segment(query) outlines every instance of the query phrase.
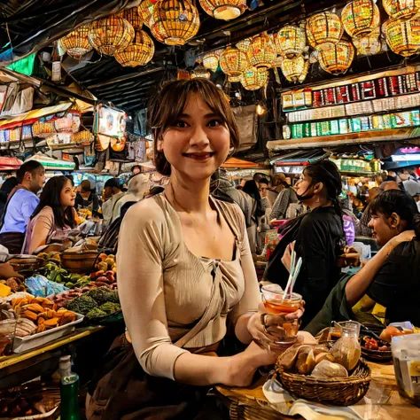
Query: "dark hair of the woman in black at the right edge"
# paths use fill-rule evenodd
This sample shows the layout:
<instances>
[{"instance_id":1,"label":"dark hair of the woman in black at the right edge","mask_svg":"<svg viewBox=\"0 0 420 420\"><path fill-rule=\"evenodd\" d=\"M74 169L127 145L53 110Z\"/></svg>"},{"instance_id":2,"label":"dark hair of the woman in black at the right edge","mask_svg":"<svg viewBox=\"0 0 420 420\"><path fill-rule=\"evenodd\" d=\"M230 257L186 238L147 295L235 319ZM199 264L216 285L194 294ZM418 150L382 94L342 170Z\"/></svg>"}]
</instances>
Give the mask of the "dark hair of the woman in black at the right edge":
<instances>
[{"instance_id":1,"label":"dark hair of the woman in black at the right edge","mask_svg":"<svg viewBox=\"0 0 420 420\"><path fill-rule=\"evenodd\" d=\"M407 192L389 190L377 195L369 204L370 214L384 214L386 218L396 213L407 222L407 229L414 229L420 239L420 214L414 198Z\"/></svg>"}]
</instances>

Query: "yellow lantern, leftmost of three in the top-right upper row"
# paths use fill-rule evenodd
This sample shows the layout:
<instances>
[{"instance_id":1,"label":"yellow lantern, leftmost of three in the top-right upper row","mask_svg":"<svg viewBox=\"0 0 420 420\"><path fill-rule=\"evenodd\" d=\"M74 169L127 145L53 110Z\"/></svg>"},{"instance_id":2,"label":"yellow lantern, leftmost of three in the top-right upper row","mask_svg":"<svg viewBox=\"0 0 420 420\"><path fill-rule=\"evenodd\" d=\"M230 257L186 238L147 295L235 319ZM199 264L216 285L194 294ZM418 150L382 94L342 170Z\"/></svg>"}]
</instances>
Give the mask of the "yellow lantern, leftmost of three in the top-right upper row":
<instances>
[{"instance_id":1,"label":"yellow lantern, leftmost of three in the top-right upper row","mask_svg":"<svg viewBox=\"0 0 420 420\"><path fill-rule=\"evenodd\" d=\"M330 48L343 35L343 24L335 13L318 13L307 19L307 42L313 48ZM321 48L321 47L320 47Z\"/></svg>"}]
</instances>

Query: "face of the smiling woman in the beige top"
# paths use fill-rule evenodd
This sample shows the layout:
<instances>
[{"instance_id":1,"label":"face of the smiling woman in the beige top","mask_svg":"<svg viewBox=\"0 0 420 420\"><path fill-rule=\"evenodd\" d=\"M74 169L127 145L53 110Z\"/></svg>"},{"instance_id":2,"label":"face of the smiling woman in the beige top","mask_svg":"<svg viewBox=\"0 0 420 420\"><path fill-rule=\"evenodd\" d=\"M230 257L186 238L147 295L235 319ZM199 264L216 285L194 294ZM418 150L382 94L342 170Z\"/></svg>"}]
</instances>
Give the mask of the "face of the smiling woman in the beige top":
<instances>
[{"instance_id":1,"label":"face of the smiling woman in the beige top","mask_svg":"<svg viewBox=\"0 0 420 420\"><path fill-rule=\"evenodd\" d=\"M174 175L202 180L226 160L229 144L226 124L198 95L191 95L178 121L158 141L158 150L164 152Z\"/></svg>"}]
</instances>

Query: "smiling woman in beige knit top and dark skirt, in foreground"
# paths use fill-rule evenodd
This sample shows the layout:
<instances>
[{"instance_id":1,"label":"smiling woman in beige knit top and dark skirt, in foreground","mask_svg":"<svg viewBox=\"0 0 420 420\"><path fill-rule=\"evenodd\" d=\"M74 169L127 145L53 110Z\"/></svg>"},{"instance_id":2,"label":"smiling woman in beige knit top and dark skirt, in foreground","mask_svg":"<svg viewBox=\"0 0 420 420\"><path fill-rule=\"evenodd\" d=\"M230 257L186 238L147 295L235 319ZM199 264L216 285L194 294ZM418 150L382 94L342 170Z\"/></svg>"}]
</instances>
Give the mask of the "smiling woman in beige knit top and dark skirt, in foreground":
<instances>
[{"instance_id":1,"label":"smiling woman in beige knit top and dark skirt, in foreground","mask_svg":"<svg viewBox=\"0 0 420 420\"><path fill-rule=\"evenodd\" d=\"M276 360L253 343L271 343L265 331L276 316L258 312L244 215L209 196L211 175L238 144L222 90L205 79L170 82L149 110L155 165L170 181L122 222L118 278L128 336L114 343L113 361L89 391L89 419L194 418L208 386L249 385L258 367ZM249 346L211 357L223 354L228 331Z\"/></svg>"}]
</instances>

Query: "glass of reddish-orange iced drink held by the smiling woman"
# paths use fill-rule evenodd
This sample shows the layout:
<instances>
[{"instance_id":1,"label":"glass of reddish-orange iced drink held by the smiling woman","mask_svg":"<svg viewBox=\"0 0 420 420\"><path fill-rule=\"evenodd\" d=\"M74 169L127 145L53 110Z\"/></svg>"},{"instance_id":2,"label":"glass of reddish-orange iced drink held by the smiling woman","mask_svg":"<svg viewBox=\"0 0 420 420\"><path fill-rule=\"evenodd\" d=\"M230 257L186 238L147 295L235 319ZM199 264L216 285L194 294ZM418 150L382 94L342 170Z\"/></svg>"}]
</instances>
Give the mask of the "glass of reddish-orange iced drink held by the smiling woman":
<instances>
[{"instance_id":1,"label":"glass of reddish-orange iced drink held by the smiling woman","mask_svg":"<svg viewBox=\"0 0 420 420\"><path fill-rule=\"evenodd\" d=\"M296 341L300 322L298 319L288 320L286 315L299 309L302 297L294 292L292 295L286 295L277 284L262 286L261 292L267 316L276 315L272 317L275 321L270 320L267 328L269 335L273 337L273 342L280 346L293 344Z\"/></svg>"}]
</instances>

